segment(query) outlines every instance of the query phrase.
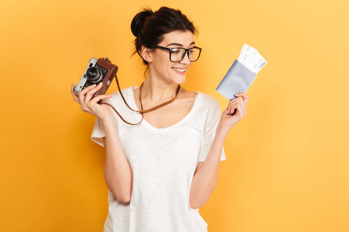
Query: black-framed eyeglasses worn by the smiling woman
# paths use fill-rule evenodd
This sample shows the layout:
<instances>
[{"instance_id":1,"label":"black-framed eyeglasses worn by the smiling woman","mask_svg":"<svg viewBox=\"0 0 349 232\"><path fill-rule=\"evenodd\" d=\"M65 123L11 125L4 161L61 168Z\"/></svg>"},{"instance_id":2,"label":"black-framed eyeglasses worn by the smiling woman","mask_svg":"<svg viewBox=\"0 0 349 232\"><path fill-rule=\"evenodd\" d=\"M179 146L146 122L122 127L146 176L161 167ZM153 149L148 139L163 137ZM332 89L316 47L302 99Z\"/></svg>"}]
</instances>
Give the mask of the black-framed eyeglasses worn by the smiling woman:
<instances>
[{"instance_id":1,"label":"black-framed eyeglasses worn by the smiling woman","mask_svg":"<svg viewBox=\"0 0 349 232\"><path fill-rule=\"evenodd\" d=\"M157 47L164 50L170 51L170 61L172 62L181 62L185 56L188 55L188 58L191 62L197 61L200 57L202 48L194 46L193 48L166 48L158 45L147 45L149 47Z\"/></svg>"}]
</instances>

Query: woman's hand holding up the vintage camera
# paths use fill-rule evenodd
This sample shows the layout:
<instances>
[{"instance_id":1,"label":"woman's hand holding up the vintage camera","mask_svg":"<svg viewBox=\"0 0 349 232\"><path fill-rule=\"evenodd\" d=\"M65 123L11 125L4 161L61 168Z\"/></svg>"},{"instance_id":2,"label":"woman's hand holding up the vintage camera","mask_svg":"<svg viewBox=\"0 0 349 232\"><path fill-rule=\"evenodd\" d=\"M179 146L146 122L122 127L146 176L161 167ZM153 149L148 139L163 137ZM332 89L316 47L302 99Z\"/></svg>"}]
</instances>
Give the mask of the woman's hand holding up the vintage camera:
<instances>
[{"instance_id":1,"label":"woman's hand holding up the vintage camera","mask_svg":"<svg viewBox=\"0 0 349 232\"><path fill-rule=\"evenodd\" d=\"M110 98L111 95L97 95L92 98L92 95L97 92L99 88L102 87L102 82L100 85L90 85L79 92L78 95L74 93L74 85L72 84L71 93L73 95L73 99L75 102L79 103L81 106L81 110L83 112L87 112L95 115L97 118L104 120L112 117L112 112L110 110L110 106L107 104L98 104L97 102L104 98ZM102 100L102 102L104 102Z\"/></svg>"}]
</instances>

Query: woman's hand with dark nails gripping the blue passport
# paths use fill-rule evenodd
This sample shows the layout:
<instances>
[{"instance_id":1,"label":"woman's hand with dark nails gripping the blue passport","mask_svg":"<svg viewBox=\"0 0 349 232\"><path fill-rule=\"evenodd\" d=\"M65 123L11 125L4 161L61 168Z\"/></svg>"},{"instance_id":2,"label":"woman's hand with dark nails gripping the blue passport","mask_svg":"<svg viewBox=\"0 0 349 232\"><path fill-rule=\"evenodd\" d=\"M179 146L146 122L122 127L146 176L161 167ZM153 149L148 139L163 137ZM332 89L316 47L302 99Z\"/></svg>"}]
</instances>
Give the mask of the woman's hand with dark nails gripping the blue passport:
<instances>
[{"instance_id":1,"label":"woman's hand with dark nails gripping the blue passport","mask_svg":"<svg viewBox=\"0 0 349 232\"><path fill-rule=\"evenodd\" d=\"M226 133L228 133L228 131L247 114L246 105L250 97L243 92L240 92L235 96L236 98L229 101L218 124L218 127Z\"/></svg>"}]
</instances>

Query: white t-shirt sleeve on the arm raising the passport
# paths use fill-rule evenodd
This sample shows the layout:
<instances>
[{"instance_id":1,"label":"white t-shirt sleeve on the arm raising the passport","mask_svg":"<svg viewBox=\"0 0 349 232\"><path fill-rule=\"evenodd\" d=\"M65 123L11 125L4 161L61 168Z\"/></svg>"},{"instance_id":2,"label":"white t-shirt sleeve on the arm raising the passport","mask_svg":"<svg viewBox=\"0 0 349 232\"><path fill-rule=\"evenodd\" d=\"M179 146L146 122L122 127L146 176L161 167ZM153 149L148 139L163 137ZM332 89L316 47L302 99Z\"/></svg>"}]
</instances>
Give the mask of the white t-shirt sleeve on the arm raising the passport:
<instances>
[{"instance_id":1,"label":"white t-shirt sleeve on the arm raising the passport","mask_svg":"<svg viewBox=\"0 0 349 232\"><path fill-rule=\"evenodd\" d=\"M200 156L201 162L205 161L208 155L208 152L210 151L211 145L213 143L213 139L215 138L215 135L216 135L216 129L220 119L221 119L220 104L218 102L211 104L208 109L208 113L205 121L205 127L203 130L204 141L203 141L203 149ZM222 147L220 161L222 160L226 160L224 146Z\"/></svg>"}]
</instances>

